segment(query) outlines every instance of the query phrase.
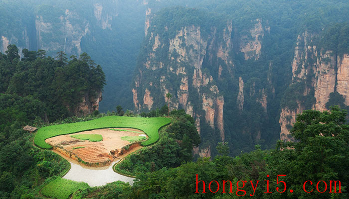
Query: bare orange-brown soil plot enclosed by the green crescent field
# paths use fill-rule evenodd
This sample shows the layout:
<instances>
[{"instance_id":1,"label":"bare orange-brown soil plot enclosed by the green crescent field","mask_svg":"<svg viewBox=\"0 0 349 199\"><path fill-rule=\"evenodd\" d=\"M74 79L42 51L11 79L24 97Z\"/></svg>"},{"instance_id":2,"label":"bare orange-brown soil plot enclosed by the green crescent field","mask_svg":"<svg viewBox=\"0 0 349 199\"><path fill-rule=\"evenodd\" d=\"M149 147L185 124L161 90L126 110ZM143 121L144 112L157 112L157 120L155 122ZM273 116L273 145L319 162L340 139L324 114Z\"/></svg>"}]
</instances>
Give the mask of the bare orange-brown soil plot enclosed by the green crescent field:
<instances>
[{"instance_id":1,"label":"bare orange-brown soil plot enclosed by the green crescent field","mask_svg":"<svg viewBox=\"0 0 349 199\"><path fill-rule=\"evenodd\" d=\"M138 143L130 145L130 142L121 139L123 136L139 136L142 131L138 129L123 128L140 132L134 133L110 129L111 128L96 129L67 135L59 135L48 138L45 141L53 147L53 150L60 152L60 154L64 154L65 156L74 160L81 159L89 166L109 165L114 161L114 159L122 159L129 153L142 148L142 146L140 146ZM71 135L77 134L100 134L102 135L103 140L100 142L90 142L88 140L78 140L71 137ZM129 145L129 147L127 147L129 148L128 150L123 148L126 145ZM74 149L77 147L83 148Z\"/></svg>"}]
</instances>

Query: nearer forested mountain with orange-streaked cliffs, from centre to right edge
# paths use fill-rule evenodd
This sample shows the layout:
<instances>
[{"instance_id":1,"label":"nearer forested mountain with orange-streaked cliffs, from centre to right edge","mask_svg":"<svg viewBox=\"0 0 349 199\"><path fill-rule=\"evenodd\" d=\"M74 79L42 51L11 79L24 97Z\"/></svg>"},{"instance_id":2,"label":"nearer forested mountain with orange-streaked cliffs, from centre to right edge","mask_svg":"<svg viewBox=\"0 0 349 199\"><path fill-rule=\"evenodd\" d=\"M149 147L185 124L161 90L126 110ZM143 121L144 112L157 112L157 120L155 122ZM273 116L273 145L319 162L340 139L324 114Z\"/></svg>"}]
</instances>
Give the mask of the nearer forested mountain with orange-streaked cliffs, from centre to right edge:
<instances>
[{"instance_id":1,"label":"nearer forested mountain with orange-streaked cliffs, from centre to right edge","mask_svg":"<svg viewBox=\"0 0 349 199\"><path fill-rule=\"evenodd\" d=\"M215 154L218 141L236 155L290 140L296 114L349 104L349 4L336 2L203 1L196 9L149 9L132 82L135 108L156 108L172 93L170 107L196 120L200 156Z\"/></svg>"}]
</instances>

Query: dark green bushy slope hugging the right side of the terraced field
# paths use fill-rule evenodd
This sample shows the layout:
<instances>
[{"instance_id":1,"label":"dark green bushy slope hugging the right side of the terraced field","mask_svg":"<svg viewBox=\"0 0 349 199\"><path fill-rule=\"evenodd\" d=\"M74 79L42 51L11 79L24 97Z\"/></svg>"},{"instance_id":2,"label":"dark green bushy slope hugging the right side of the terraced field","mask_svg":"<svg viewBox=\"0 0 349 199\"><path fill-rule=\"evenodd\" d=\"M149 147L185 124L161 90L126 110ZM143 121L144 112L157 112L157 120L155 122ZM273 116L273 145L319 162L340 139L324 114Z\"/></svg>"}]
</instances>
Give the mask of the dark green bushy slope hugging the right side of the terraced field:
<instances>
[{"instance_id":1,"label":"dark green bushy slope hugging the right side of the terraced field","mask_svg":"<svg viewBox=\"0 0 349 199\"><path fill-rule=\"evenodd\" d=\"M172 111L172 124L160 131L161 139L152 147L127 156L115 170L137 175L158 171L164 167L178 167L184 161L191 161L192 148L200 143L195 123L183 110Z\"/></svg>"}]
</instances>

